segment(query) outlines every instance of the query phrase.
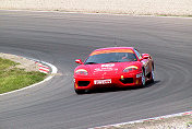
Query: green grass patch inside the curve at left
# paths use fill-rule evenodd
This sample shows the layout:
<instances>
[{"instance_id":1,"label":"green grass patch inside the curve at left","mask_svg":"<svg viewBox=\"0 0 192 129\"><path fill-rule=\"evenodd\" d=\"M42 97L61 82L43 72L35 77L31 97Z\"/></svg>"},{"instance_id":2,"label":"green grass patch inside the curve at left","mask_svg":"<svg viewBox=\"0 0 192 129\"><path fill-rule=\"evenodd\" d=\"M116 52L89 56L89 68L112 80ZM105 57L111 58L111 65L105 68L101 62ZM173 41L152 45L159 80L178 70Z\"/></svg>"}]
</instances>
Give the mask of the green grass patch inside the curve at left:
<instances>
[{"instance_id":1,"label":"green grass patch inside the curve at left","mask_svg":"<svg viewBox=\"0 0 192 129\"><path fill-rule=\"evenodd\" d=\"M19 63L0 58L0 94L40 82L47 75L41 72L17 69L16 64Z\"/></svg>"}]
</instances>

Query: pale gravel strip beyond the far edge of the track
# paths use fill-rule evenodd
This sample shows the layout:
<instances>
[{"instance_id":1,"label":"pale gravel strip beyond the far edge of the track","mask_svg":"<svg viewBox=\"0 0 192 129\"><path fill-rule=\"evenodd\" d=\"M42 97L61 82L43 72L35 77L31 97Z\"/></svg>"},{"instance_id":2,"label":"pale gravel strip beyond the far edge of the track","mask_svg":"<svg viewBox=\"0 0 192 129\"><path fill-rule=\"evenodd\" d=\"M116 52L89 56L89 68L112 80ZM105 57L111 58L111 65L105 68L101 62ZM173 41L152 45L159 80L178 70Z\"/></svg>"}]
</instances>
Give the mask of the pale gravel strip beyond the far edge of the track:
<instances>
[{"instance_id":1,"label":"pale gravel strip beyond the far edge of the track","mask_svg":"<svg viewBox=\"0 0 192 129\"><path fill-rule=\"evenodd\" d=\"M0 9L192 15L192 0L0 0Z\"/></svg>"}]
</instances>

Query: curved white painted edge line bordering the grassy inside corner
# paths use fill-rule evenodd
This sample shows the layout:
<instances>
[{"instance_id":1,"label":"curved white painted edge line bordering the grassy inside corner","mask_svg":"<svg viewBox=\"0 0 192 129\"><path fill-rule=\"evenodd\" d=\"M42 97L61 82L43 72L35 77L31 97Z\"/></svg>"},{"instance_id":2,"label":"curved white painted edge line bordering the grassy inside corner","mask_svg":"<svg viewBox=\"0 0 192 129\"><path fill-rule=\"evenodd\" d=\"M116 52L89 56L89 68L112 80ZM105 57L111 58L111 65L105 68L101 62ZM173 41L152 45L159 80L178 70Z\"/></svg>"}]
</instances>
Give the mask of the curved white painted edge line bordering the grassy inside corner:
<instances>
[{"instance_id":1,"label":"curved white painted edge line bordering the grassy inside corner","mask_svg":"<svg viewBox=\"0 0 192 129\"><path fill-rule=\"evenodd\" d=\"M25 57L25 58L26 58L26 57ZM36 60L36 59L32 59L32 58L28 58L28 59L31 59L31 60ZM36 60L36 61L40 61L40 60ZM3 94L0 94L0 96L8 95L8 94L12 94L12 93L20 92L20 91L24 91L24 90L26 90L26 89L31 89L31 87L34 87L34 86L36 86L36 85L43 84L44 82L47 82L47 81L49 81L50 79L52 79L52 78L55 77L55 74L58 72L57 67L55 67L53 64L51 64L51 63L49 63L49 62L45 62L45 61L40 61L40 62L43 62L43 63L45 63L45 64L47 64L47 66L49 66L49 67L51 68L52 72L50 73L49 77L47 77L45 80L43 80L43 81L40 81L40 82L38 82L38 83L28 85L28 86L23 87L23 89L20 89L20 90L15 90L15 91L11 91L11 92L7 92L7 93L3 93Z\"/></svg>"}]
</instances>

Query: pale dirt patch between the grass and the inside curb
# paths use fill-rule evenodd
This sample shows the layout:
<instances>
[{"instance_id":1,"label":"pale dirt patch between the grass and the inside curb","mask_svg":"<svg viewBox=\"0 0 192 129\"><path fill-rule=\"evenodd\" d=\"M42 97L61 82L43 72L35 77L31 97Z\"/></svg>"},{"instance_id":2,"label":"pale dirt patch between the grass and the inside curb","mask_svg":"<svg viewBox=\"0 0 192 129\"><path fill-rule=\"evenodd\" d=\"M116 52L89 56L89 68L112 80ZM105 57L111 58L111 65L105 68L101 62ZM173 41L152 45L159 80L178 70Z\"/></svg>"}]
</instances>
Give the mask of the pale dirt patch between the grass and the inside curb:
<instances>
[{"instance_id":1,"label":"pale dirt patch between the grass and the inside curb","mask_svg":"<svg viewBox=\"0 0 192 129\"><path fill-rule=\"evenodd\" d=\"M33 60L19 57L15 55L2 54L2 52L0 52L0 57L3 59L9 59L9 60L20 63L20 64L16 64L15 67L20 69L24 69L25 71L39 71L38 66Z\"/></svg>"}]
</instances>

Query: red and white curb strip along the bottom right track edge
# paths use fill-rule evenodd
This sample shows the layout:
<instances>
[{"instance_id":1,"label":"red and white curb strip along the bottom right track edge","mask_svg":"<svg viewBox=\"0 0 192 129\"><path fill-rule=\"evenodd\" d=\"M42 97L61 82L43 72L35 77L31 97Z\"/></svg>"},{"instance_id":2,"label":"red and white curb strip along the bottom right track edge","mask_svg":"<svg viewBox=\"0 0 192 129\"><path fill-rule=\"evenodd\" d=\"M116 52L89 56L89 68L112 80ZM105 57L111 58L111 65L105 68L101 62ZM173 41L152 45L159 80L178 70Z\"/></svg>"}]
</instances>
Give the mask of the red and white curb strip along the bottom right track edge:
<instances>
[{"instance_id":1,"label":"red and white curb strip along the bottom right track edge","mask_svg":"<svg viewBox=\"0 0 192 129\"><path fill-rule=\"evenodd\" d=\"M139 122L144 122L144 121L154 121L154 120L160 120L160 119L166 119L166 118L170 118L170 117L179 117L179 116L185 116L185 115L192 115L192 110L191 112L179 113L179 114L160 116L160 117L154 117L154 118L134 120L134 121L129 121L129 122L121 122L121 124L115 124L115 125L107 125L107 126L94 127L94 128L89 128L89 129L120 128L120 127L122 127L124 125L139 124Z\"/></svg>"}]
</instances>

